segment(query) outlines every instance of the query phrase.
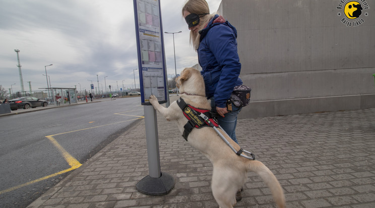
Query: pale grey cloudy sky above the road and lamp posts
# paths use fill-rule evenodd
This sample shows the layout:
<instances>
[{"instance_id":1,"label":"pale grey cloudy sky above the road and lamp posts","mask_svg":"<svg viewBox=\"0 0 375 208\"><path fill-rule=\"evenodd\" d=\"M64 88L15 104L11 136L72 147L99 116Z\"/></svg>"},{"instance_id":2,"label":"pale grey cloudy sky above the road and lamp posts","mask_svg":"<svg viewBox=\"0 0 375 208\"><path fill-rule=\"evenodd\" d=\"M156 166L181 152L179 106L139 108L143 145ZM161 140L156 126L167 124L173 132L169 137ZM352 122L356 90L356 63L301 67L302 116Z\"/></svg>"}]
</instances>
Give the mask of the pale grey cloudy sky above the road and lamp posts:
<instances>
[{"instance_id":1,"label":"pale grey cloudy sky above the road and lamp posts","mask_svg":"<svg viewBox=\"0 0 375 208\"><path fill-rule=\"evenodd\" d=\"M207 0L216 12L221 0ZM189 43L189 29L181 17L185 0L160 0L164 32L175 34L177 74L198 63ZM167 74L174 76L172 35L164 34ZM17 53L25 90L74 87L89 90L92 80L100 89L134 87L138 69L132 0L3 0L0 2L0 85L20 91ZM135 71L139 87L138 70ZM117 81L117 83L116 83ZM132 85L133 84L133 85Z\"/></svg>"}]
</instances>

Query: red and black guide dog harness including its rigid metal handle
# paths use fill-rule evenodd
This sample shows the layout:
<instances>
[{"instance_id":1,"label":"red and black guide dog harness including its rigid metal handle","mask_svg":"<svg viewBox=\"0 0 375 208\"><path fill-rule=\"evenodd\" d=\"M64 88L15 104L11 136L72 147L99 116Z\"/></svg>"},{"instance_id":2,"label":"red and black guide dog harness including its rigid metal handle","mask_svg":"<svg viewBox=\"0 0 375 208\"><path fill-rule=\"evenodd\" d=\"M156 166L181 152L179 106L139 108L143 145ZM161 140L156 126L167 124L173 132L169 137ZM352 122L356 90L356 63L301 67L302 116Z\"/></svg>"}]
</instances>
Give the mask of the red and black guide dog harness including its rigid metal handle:
<instances>
[{"instance_id":1,"label":"red and black guide dog harness including its rigid metal handle","mask_svg":"<svg viewBox=\"0 0 375 208\"><path fill-rule=\"evenodd\" d=\"M182 110L184 116L189 120L188 123L186 123L185 126L183 127L184 131L183 131L182 137L186 141L188 141L188 135L194 128L201 128L207 125L209 127L212 127L215 130L215 132L220 136L220 138L225 142L225 144L227 144L236 155L244 157L249 160L255 160L255 155L253 153L243 150L242 148L240 148L238 151L234 149L234 147L229 143L229 141L224 137L224 135L216 127L219 127L227 137L230 138L230 136L224 131L224 129L218 124L216 120L214 120L213 118L208 118L208 116L206 116L206 115L210 115L211 117L214 117L212 116L214 115L213 112L209 112L208 110L194 108L188 105L181 97L178 98L177 104ZM201 119L199 118L201 118L203 121L201 121ZM243 155L242 154L243 152L251 155L252 157Z\"/></svg>"}]
</instances>

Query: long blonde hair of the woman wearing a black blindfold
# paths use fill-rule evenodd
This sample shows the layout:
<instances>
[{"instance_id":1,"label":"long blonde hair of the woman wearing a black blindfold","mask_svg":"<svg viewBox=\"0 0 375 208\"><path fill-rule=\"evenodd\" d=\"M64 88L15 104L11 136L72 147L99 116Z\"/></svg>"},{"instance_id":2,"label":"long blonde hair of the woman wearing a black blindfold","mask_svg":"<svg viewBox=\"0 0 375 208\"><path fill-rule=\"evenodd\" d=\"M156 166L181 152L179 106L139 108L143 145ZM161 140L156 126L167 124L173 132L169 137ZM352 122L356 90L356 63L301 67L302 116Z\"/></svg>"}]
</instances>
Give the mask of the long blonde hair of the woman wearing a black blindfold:
<instances>
[{"instance_id":1,"label":"long blonde hair of the woman wearing a black blindfold","mask_svg":"<svg viewBox=\"0 0 375 208\"><path fill-rule=\"evenodd\" d=\"M183 12L190 12L197 15L200 14L210 14L210 8L208 7L208 4L205 0L189 0L185 3L185 5L182 7L182 17ZM204 15L200 17L199 22L199 30L203 30L208 22L215 16L215 14L211 15ZM200 37L201 34L194 33L193 31L190 31L190 44L194 47L195 50L198 50L199 44L200 44Z\"/></svg>"}]
</instances>

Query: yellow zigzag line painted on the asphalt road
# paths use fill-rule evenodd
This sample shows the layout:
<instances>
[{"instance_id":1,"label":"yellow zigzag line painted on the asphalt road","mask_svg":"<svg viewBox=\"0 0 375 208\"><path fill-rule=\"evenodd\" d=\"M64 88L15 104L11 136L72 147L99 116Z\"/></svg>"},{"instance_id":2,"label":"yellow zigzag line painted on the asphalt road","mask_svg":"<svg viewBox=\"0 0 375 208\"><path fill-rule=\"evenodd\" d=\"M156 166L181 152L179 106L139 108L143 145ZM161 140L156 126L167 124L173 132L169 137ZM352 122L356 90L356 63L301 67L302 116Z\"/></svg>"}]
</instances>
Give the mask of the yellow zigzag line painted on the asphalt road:
<instances>
[{"instance_id":1,"label":"yellow zigzag line painted on the asphalt road","mask_svg":"<svg viewBox=\"0 0 375 208\"><path fill-rule=\"evenodd\" d=\"M133 112L133 111L128 111L128 112ZM127 112L120 112L120 113L127 113ZM120 113L116 113L118 115L124 115L124 114L120 114ZM124 115L124 116L133 116L133 115ZM133 117L139 117L137 119L143 119L145 117L143 116L133 116ZM17 186L14 186L14 187L11 187L11 188L8 188L8 189L5 189L5 190L2 190L0 191L0 195L3 194L3 193L7 193L7 192L10 192L10 191L14 191L16 189L19 189L19 188L22 188L22 187L25 187L27 185L30 185L30 184L33 184L33 183L36 183L36 182L39 182L39 181L42 181L42 180L45 180L45 179L48 179L48 178L51 178L51 177L54 177L54 176L57 176L57 175L61 175L63 173L66 173L66 172L69 172L71 170L75 170L77 168L79 168L82 164L80 162L78 162L78 160L76 160L76 158L74 158L71 154L69 154L60 144L58 144L58 142L53 138L53 136L56 136L56 135L62 135L62 134L68 134L68 133L72 133L72 132L79 132L79 131L83 131L83 130L88 130L88 129L94 129L94 128L99 128L99 127L104 127L104 126L109 126L109 125L113 125L113 124L120 124L120 123L124 123L124 122L129 122L129 121L134 121L134 120L137 120L137 119L131 119L131 120L127 120L127 121L122 121L122 122L115 122L115 123L111 123L111 124L105 124L105 125L101 125L101 126L97 126L97 127L90 127L90 128L86 128L86 129L80 129L80 130L75 130L75 131L70 131L70 132L64 132L64 133L59 133L59 134L54 134L54 135L49 135L49 136L46 136L46 138L52 142L52 144L59 150L59 152L64 156L65 160L68 162L68 164L71 166L71 168L69 169L65 169L65 170L61 170L57 173L53 173L53 174L50 174L50 175L47 175L47 176L44 176L42 178L38 178L36 180L32 180L32 181L29 181L27 183L24 183L24 184L21 184L21 185L17 185Z\"/></svg>"}]
</instances>

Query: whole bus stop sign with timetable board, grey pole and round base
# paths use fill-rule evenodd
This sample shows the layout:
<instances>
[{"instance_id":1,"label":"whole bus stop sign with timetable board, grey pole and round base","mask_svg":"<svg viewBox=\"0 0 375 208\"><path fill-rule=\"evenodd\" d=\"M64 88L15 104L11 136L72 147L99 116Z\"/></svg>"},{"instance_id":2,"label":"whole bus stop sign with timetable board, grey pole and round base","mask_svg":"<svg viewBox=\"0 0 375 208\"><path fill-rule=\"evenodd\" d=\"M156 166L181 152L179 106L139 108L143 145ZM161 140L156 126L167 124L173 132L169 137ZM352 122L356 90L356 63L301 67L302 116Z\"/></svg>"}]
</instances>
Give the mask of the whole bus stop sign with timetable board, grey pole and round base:
<instances>
[{"instance_id":1,"label":"whole bus stop sign with timetable board, grey pole and round base","mask_svg":"<svg viewBox=\"0 0 375 208\"><path fill-rule=\"evenodd\" d=\"M171 175L160 170L156 111L149 102L155 95L159 103L168 101L164 40L159 0L133 0L136 25L141 102L145 111L149 175L136 187L142 193L163 195L174 186Z\"/></svg>"}]
</instances>

